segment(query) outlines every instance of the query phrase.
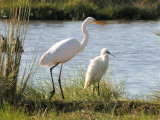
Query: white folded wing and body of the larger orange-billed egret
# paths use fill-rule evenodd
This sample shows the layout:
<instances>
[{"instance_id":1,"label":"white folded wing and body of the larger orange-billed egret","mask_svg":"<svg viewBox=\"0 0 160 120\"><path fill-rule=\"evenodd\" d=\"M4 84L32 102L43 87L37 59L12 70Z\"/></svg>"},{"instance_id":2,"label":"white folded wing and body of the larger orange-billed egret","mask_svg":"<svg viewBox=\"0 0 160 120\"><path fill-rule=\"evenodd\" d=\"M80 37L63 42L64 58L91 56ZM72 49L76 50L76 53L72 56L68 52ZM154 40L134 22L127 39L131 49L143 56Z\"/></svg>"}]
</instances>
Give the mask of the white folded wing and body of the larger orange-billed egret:
<instances>
[{"instance_id":1,"label":"white folded wing and body of the larger orange-billed egret","mask_svg":"<svg viewBox=\"0 0 160 120\"><path fill-rule=\"evenodd\" d=\"M53 45L41 58L40 65L52 66L72 59L80 49L78 40L69 38Z\"/></svg>"}]
</instances>

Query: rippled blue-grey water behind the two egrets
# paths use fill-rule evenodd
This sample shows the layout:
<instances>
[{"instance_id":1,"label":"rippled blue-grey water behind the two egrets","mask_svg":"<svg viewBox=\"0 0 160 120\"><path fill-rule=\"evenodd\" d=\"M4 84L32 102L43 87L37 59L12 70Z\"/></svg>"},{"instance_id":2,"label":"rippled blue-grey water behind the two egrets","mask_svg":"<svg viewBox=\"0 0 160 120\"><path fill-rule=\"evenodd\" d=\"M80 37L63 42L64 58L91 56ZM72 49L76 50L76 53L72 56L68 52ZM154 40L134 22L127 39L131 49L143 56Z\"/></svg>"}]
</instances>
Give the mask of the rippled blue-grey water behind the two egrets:
<instances>
[{"instance_id":1,"label":"rippled blue-grey water behind the two egrets","mask_svg":"<svg viewBox=\"0 0 160 120\"><path fill-rule=\"evenodd\" d=\"M118 77L125 77L126 89L130 96L149 93L160 82L160 30L157 21L103 21L106 26L90 25L89 42L82 53L63 66L62 74L72 76L77 67L85 71L89 60L107 48L116 58L110 56L109 69ZM66 38L83 39L82 21L31 21L28 27L22 56L22 66L32 57L37 46L38 59L53 44ZM38 43L38 45L37 45ZM59 67L54 71L58 74ZM39 68L35 80L48 79L48 68ZM117 79L118 80L118 79ZM62 81L63 82L63 81Z\"/></svg>"}]
</instances>

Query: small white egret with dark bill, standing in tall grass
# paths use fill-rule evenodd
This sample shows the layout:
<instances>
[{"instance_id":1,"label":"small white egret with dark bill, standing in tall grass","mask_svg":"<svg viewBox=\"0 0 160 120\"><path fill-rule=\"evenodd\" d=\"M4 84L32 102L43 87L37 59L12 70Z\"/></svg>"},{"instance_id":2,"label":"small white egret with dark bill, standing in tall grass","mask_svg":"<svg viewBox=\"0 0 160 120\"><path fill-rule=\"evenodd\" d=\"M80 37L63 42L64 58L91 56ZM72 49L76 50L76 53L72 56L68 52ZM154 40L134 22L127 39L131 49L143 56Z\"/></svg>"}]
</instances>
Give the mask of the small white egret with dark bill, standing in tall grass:
<instances>
[{"instance_id":1,"label":"small white egret with dark bill, standing in tall grass","mask_svg":"<svg viewBox=\"0 0 160 120\"><path fill-rule=\"evenodd\" d=\"M98 82L98 95L100 95L99 81L101 80L101 78L103 77L103 75L108 69L109 54L112 55L109 52L109 50L107 50L106 48L103 48L101 50L100 56L97 56L96 58L91 60L91 63L88 66L84 89L86 89L87 87L93 84L93 95L94 95L94 86L96 82Z\"/></svg>"}]
</instances>

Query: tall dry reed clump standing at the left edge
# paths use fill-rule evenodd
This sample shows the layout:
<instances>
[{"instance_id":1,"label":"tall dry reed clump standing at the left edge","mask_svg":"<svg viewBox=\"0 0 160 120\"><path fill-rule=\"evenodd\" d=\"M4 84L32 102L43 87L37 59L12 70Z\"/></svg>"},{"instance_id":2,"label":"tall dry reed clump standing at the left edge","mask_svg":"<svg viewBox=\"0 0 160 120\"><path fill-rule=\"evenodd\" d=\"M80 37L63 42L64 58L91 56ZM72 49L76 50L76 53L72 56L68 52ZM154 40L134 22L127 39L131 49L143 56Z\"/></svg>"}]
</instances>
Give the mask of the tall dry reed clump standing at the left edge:
<instances>
[{"instance_id":1,"label":"tall dry reed clump standing at the left edge","mask_svg":"<svg viewBox=\"0 0 160 120\"><path fill-rule=\"evenodd\" d=\"M3 12L7 1L1 0ZM30 14L28 0L12 0L9 6L9 19L5 19L5 29L1 29L0 47L0 102L16 102L18 95L18 75L20 72L23 45ZM4 15L1 16L1 19ZM3 44L5 41L6 44Z\"/></svg>"}]
</instances>

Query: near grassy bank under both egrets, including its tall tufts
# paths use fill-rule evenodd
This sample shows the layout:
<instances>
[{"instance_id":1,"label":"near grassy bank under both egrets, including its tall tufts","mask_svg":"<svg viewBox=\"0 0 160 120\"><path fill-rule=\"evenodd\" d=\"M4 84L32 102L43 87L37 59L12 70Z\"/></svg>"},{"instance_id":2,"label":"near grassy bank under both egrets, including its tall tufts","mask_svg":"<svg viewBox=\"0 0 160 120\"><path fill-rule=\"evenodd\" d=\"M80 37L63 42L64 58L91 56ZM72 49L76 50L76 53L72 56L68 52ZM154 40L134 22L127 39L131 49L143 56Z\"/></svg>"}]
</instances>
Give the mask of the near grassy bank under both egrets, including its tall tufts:
<instances>
[{"instance_id":1,"label":"near grassy bank under both egrets, including its tall tufts","mask_svg":"<svg viewBox=\"0 0 160 120\"><path fill-rule=\"evenodd\" d=\"M62 99L58 83L56 93L48 100L51 86L44 81L28 84L22 100L0 108L0 118L10 119L115 119L115 120L154 120L160 118L158 99L128 99L124 80L109 73L100 83L100 96L92 94L92 87L84 90L85 73L78 70L74 77L65 77L63 84L65 100ZM116 80L116 81L115 81ZM97 89L95 89L97 90ZM96 91L97 92L97 91ZM95 93L96 93L95 92ZM156 93L154 93L156 94ZM156 96L157 98L157 95Z\"/></svg>"}]
</instances>

